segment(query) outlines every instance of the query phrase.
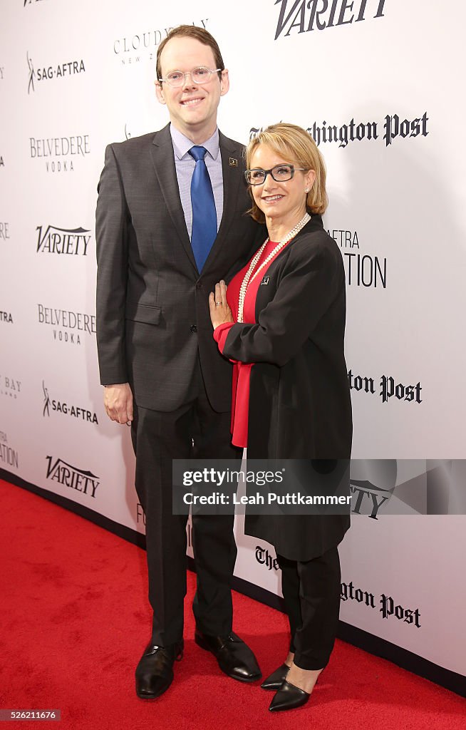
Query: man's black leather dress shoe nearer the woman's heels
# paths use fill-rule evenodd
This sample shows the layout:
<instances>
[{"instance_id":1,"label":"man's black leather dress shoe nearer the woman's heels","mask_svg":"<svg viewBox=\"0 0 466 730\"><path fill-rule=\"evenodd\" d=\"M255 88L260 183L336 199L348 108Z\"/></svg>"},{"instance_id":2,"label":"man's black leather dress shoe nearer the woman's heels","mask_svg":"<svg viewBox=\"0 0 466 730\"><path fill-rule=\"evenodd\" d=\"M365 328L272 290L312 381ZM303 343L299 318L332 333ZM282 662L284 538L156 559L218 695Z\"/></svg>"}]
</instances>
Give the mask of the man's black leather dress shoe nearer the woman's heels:
<instances>
[{"instance_id":1,"label":"man's black leather dress shoe nearer the woman's heels","mask_svg":"<svg viewBox=\"0 0 466 730\"><path fill-rule=\"evenodd\" d=\"M195 630L194 640L198 646L210 651L217 659L220 669L228 677L240 682L255 682L262 674L257 660L249 649L233 631L226 637L213 637Z\"/></svg>"}]
</instances>

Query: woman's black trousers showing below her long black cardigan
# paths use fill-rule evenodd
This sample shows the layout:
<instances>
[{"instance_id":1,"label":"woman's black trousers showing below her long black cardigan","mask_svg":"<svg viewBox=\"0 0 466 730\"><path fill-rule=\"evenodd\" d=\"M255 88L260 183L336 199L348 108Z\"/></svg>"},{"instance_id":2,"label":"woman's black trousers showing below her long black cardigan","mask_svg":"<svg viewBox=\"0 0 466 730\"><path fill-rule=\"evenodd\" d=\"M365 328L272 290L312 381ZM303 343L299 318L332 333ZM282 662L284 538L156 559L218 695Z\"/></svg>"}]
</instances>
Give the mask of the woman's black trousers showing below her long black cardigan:
<instances>
[{"instance_id":1,"label":"woman's black trousers showing below her long black cardigan","mask_svg":"<svg viewBox=\"0 0 466 730\"><path fill-rule=\"evenodd\" d=\"M335 644L340 613L338 548L306 562L277 558L294 662L301 669L323 669Z\"/></svg>"}]
</instances>

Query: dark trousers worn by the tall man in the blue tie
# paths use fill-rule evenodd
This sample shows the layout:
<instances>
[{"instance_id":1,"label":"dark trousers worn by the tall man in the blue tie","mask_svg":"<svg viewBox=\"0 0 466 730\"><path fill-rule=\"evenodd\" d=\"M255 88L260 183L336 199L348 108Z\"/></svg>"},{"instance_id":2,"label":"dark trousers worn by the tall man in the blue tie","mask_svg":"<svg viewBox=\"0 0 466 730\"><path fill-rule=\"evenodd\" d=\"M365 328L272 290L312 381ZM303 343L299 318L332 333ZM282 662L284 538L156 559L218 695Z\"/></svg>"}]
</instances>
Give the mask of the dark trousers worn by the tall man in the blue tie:
<instances>
[{"instance_id":1,"label":"dark trousers worn by the tall man in the blue tie","mask_svg":"<svg viewBox=\"0 0 466 730\"><path fill-rule=\"evenodd\" d=\"M212 410L200 368L193 400L174 412L135 405L131 437L136 454L136 491L146 518L149 601L154 615L152 642L167 646L182 639L186 595L185 515L172 512L174 458L240 458L231 445L230 413ZM193 515L197 590L193 612L205 634L231 631L231 577L236 561L234 515Z\"/></svg>"}]
</instances>

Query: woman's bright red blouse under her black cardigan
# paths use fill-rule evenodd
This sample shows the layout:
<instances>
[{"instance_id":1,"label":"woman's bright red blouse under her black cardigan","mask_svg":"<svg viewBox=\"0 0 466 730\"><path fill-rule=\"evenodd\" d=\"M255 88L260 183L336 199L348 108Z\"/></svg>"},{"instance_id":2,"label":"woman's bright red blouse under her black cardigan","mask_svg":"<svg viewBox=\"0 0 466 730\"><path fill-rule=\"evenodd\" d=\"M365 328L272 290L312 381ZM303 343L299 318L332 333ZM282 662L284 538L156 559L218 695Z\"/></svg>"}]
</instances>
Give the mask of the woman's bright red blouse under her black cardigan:
<instances>
[{"instance_id":1,"label":"woman's bright red blouse under her black cardigan","mask_svg":"<svg viewBox=\"0 0 466 730\"><path fill-rule=\"evenodd\" d=\"M278 244L273 241L268 241L265 245L263 252L260 255L259 261L255 266L251 277L254 276L255 271L263 263L265 258L273 251ZM244 309L243 309L243 321L245 323L253 324L256 323L255 307L257 291L259 290L261 282L265 280L267 275L268 267L272 261L275 261L276 257L283 251L288 244L284 245L268 262L267 266L261 269L260 274L255 277L253 281L249 280L248 288L246 289L246 296L244 297ZM244 275L249 269L248 261L244 269L241 269L238 274L230 281L227 289L227 301L230 306L230 310L233 312L233 319L235 322L238 321L238 304L239 304L239 290L243 283ZM223 353L225 342L228 337L230 329L233 327L233 322L221 324L214 329L214 339L217 342L219 350ZM251 377L251 368L254 363L241 363L236 360L233 362L233 393L231 402L231 433L233 446L246 447L247 446L247 432L248 432L248 414L249 414L249 379Z\"/></svg>"}]
</instances>

